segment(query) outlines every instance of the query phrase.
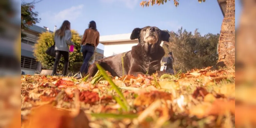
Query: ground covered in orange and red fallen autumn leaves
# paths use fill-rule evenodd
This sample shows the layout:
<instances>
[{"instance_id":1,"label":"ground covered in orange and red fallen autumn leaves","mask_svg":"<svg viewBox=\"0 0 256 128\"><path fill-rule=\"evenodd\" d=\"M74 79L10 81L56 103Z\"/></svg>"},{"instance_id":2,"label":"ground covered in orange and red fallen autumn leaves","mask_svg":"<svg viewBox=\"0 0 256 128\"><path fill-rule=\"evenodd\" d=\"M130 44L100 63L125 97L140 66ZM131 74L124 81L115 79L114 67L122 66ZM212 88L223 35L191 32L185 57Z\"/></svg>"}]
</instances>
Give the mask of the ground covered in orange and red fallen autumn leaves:
<instances>
[{"instance_id":1,"label":"ground covered in orange and red fallen autumn leaves","mask_svg":"<svg viewBox=\"0 0 256 128\"><path fill-rule=\"evenodd\" d=\"M42 122L48 127L57 127L55 124L68 127L80 122L80 127L110 128L235 125L233 68L211 70L207 67L175 75L156 73L120 78L111 77L101 67L98 68L93 78L80 80L44 75L21 76L22 126L39 128ZM57 119L59 110L72 112L76 107L84 116L76 114L66 121ZM36 110L39 108L40 111ZM48 118L44 118L47 113ZM36 123L36 119L42 121Z\"/></svg>"}]
</instances>

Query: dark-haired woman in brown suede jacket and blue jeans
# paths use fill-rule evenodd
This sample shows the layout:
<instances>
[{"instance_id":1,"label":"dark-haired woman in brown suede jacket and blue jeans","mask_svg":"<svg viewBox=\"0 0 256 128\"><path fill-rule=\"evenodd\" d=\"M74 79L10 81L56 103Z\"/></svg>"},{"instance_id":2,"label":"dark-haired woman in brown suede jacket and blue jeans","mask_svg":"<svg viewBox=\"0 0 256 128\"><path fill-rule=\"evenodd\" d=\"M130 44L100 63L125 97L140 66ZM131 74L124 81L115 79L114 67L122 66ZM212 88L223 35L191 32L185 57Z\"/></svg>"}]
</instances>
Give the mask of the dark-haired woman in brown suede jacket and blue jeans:
<instances>
[{"instance_id":1,"label":"dark-haired woman in brown suede jacket and blue jeans","mask_svg":"<svg viewBox=\"0 0 256 128\"><path fill-rule=\"evenodd\" d=\"M88 29L85 30L84 36L81 41L82 53L83 53L83 65L80 68L81 74L86 74L88 72L88 63L90 58L94 54L94 50L99 44L99 32L96 28L95 21L89 23Z\"/></svg>"}]
</instances>

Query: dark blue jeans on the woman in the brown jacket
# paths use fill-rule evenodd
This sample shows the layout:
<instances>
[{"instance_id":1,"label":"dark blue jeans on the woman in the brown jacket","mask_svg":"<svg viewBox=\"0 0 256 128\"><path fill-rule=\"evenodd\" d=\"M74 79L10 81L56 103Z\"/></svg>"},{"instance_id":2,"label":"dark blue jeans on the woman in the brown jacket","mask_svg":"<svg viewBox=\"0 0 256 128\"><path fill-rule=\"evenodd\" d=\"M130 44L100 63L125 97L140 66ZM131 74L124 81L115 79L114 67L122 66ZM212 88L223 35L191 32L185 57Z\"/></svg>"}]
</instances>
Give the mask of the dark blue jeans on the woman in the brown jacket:
<instances>
[{"instance_id":1,"label":"dark blue jeans on the woman in the brown jacket","mask_svg":"<svg viewBox=\"0 0 256 128\"><path fill-rule=\"evenodd\" d=\"M91 57L93 56L94 53L94 46L90 46L90 45L84 45L82 47L82 53L83 53L83 65L80 68L80 72L81 74L86 74L88 72L88 63L89 60L91 59Z\"/></svg>"}]
</instances>

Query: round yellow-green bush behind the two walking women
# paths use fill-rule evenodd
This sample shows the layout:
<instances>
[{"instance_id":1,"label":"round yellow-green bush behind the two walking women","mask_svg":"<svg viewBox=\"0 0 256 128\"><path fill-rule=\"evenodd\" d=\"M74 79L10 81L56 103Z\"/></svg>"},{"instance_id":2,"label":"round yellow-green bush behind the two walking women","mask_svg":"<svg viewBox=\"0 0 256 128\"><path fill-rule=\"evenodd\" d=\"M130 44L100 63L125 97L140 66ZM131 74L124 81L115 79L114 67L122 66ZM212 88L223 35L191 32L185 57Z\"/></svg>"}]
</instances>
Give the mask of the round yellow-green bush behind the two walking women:
<instances>
[{"instance_id":1,"label":"round yellow-green bush behind the two walking women","mask_svg":"<svg viewBox=\"0 0 256 128\"><path fill-rule=\"evenodd\" d=\"M69 69L73 66L74 62L82 62L83 56L80 52L80 42L81 36L75 30L71 30L72 39L75 43L74 52L69 53ZM45 53L45 51L54 44L54 33L44 32L39 35L37 40L37 44L35 44L34 56L36 60L42 63L42 67L46 69L52 69L55 61L55 57L51 57ZM64 58L60 59L60 63L58 65L58 70L63 69L64 66Z\"/></svg>"}]
</instances>

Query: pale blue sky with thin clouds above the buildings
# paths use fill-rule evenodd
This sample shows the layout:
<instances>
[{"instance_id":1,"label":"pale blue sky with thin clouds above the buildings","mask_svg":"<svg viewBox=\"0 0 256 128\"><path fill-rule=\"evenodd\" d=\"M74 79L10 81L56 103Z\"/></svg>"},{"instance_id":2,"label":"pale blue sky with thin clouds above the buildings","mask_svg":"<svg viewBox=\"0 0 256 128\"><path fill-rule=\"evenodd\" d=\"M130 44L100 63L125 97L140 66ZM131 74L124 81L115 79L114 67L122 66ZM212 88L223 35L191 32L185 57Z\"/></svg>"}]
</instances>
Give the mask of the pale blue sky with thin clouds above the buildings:
<instances>
[{"instance_id":1,"label":"pale blue sky with thin clouds above the buildings","mask_svg":"<svg viewBox=\"0 0 256 128\"><path fill-rule=\"evenodd\" d=\"M26 1L29 2L29 1ZM140 6L141 0L43 0L35 5L41 18L38 26L58 28L64 20L71 22L71 29L83 34L90 20L95 20L101 36L131 33L136 27L156 26L177 31L181 26L204 35L219 33L223 15L217 0L181 0L175 7L173 1L153 7ZM236 4L236 26L240 15L240 3ZM100 49L104 46L100 44Z\"/></svg>"}]
</instances>

